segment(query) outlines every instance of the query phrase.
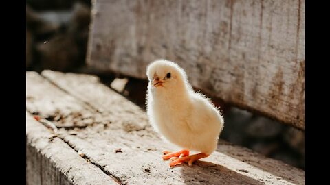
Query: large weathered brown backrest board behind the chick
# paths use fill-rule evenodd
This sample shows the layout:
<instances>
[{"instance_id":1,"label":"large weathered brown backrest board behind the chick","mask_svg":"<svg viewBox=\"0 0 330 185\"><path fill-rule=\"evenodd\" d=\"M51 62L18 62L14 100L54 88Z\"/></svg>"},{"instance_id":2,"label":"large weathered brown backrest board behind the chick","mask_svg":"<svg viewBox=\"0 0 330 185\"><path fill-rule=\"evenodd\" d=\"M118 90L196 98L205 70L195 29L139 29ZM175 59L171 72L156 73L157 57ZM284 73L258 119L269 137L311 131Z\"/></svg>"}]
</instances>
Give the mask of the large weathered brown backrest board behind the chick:
<instances>
[{"instance_id":1,"label":"large weathered brown backrest board behind the chick","mask_svg":"<svg viewBox=\"0 0 330 185\"><path fill-rule=\"evenodd\" d=\"M149 62L179 63L228 103L304 130L305 1L93 3L87 63L146 79Z\"/></svg>"}]
</instances>

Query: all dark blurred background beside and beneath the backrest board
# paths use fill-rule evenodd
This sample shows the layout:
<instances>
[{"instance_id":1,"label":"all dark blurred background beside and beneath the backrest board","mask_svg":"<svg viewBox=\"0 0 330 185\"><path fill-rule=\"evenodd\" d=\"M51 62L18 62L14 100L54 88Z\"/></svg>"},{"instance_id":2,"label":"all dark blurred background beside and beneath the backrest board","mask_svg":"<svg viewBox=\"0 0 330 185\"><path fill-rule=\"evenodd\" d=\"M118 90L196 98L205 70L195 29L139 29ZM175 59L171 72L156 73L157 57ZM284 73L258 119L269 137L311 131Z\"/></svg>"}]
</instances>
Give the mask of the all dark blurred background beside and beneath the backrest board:
<instances>
[{"instance_id":1,"label":"all dark blurred background beside and beneath the backrest board","mask_svg":"<svg viewBox=\"0 0 330 185\"><path fill-rule=\"evenodd\" d=\"M85 59L90 21L89 0L27 0L26 70L91 73L114 89L115 79L122 79L126 86L123 90L115 90L144 108L145 80L87 66ZM133 90L135 93L132 93ZM305 169L304 132L227 105L219 99L213 100L221 106L225 116L225 128L221 134L223 140Z\"/></svg>"}]
</instances>

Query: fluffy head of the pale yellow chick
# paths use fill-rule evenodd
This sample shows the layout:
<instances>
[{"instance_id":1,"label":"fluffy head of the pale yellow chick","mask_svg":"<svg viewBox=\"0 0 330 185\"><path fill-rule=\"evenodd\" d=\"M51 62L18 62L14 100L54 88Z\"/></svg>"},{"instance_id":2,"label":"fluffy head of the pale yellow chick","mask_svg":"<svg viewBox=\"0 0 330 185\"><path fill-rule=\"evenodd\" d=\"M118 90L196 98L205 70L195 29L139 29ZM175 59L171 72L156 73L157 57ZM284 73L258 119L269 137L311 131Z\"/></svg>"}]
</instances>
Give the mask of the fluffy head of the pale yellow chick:
<instances>
[{"instance_id":1,"label":"fluffy head of the pale yellow chick","mask_svg":"<svg viewBox=\"0 0 330 185\"><path fill-rule=\"evenodd\" d=\"M186 73L174 62L168 60L156 60L148 65L146 70L150 85L161 88L175 88L182 86L186 81Z\"/></svg>"}]
</instances>

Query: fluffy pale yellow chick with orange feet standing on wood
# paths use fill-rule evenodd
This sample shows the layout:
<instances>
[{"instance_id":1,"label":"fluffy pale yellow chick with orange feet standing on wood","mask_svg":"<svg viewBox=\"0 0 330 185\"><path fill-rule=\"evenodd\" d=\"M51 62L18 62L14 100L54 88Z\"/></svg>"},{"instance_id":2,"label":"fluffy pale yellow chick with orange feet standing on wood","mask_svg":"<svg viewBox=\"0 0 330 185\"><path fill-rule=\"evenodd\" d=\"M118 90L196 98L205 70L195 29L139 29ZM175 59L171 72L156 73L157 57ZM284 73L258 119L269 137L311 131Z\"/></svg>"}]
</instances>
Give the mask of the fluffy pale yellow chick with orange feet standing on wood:
<instances>
[{"instance_id":1,"label":"fluffy pale yellow chick with orange feet standing on wood","mask_svg":"<svg viewBox=\"0 0 330 185\"><path fill-rule=\"evenodd\" d=\"M196 93L186 72L168 60L148 65L146 109L153 128L181 151L164 151L170 167L208 157L215 149L223 129L223 116L203 94ZM189 155L190 150L200 153Z\"/></svg>"}]
</instances>

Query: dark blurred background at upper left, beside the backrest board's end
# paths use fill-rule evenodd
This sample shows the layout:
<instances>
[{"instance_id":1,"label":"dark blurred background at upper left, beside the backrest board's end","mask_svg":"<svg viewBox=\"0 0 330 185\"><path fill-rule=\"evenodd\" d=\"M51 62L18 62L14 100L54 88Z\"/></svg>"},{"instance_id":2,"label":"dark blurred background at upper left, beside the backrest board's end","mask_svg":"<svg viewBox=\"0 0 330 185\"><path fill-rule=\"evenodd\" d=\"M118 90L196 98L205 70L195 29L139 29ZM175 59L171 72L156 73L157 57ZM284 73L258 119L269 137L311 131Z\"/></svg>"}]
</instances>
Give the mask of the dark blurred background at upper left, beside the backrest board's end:
<instances>
[{"instance_id":1,"label":"dark blurred background at upper left, beside the backrest board's end","mask_svg":"<svg viewBox=\"0 0 330 185\"><path fill-rule=\"evenodd\" d=\"M73 71L85 64L91 1L28 0L26 69Z\"/></svg>"}]
</instances>

